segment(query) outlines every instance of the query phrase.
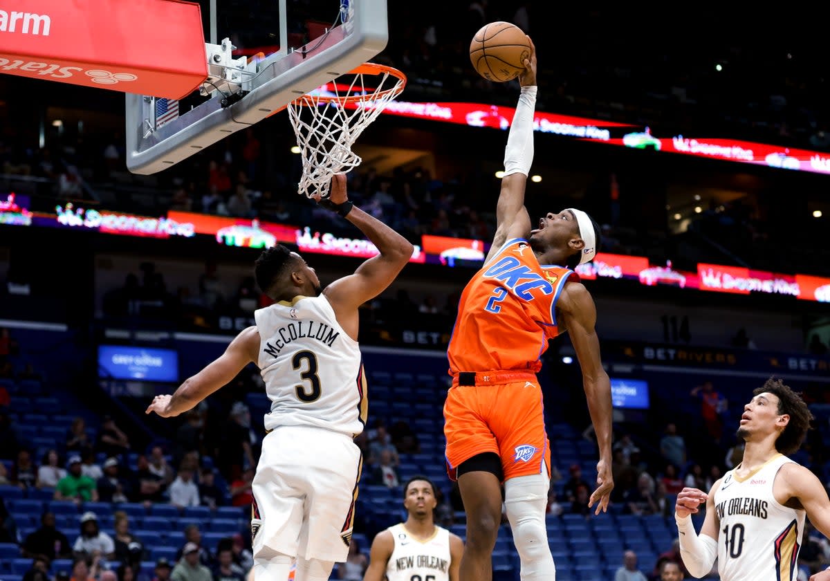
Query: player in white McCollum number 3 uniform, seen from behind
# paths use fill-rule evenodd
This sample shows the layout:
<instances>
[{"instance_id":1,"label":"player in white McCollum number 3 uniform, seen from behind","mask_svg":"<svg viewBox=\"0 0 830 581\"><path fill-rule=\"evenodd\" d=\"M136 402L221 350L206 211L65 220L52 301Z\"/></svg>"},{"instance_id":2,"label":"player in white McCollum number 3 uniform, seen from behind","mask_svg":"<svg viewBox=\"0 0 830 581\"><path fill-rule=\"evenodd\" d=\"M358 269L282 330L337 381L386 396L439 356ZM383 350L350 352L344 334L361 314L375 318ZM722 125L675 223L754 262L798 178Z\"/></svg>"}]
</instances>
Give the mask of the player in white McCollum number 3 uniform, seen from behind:
<instances>
[{"instance_id":1,"label":"player in white McCollum number 3 uniform, seen from behind","mask_svg":"<svg viewBox=\"0 0 830 581\"><path fill-rule=\"evenodd\" d=\"M178 416L247 364L261 369L271 413L252 487L257 581L285 581L294 557L297 581L326 581L334 562L346 559L361 464L353 438L366 420L358 307L380 294L413 253L404 237L352 207L342 174L332 179L329 204L380 254L321 290L300 255L280 245L263 251L256 284L277 302L256 310L256 325L221 357L147 408Z\"/></svg>"}]
</instances>

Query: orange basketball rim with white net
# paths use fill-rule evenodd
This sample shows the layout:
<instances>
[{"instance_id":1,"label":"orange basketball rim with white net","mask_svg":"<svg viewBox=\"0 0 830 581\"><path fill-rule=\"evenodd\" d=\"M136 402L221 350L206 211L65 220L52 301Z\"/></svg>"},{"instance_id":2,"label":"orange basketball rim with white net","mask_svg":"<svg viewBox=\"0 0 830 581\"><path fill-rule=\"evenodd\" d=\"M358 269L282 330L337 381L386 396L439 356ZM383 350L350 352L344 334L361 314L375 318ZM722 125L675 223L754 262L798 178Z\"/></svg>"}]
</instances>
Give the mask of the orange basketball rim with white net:
<instances>
[{"instance_id":1,"label":"orange basketball rim with white net","mask_svg":"<svg viewBox=\"0 0 830 581\"><path fill-rule=\"evenodd\" d=\"M401 71L372 62L348 75L354 77L348 85L335 79L288 105L303 164L298 193L308 198L328 198L331 177L360 164L352 144L407 84ZM367 80L376 83L374 88L367 87Z\"/></svg>"}]
</instances>

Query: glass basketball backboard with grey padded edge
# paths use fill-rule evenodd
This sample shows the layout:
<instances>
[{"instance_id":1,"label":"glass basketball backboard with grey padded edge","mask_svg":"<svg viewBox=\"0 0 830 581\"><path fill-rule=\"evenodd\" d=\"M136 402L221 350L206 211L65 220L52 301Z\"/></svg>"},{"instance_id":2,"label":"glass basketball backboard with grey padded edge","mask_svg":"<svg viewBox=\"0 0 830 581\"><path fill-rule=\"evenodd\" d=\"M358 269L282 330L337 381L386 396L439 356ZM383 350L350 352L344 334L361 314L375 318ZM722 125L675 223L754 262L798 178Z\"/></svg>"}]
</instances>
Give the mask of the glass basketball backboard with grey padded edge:
<instances>
[{"instance_id":1,"label":"glass basketball backboard with grey padded edge","mask_svg":"<svg viewBox=\"0 0 830 581\"><path fill-rule=\"evenodd\" d=\"M388 41L386 0L199 4L208 80L178 101L126 95L133 173L157 173L246 129L370 61Z\"/></svg>"}]
</instances>

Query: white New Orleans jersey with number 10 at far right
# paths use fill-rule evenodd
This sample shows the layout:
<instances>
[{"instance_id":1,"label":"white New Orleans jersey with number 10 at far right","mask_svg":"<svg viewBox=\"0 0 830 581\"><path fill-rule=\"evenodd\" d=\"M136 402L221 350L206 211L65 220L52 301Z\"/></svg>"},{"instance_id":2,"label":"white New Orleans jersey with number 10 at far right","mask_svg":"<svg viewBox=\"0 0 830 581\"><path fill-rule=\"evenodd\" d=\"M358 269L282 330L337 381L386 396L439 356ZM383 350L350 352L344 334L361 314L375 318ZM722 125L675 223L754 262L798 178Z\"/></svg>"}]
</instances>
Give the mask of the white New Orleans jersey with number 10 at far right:
<instances>
[{"instance_id":1,"label":"white New Orleans jersey with number 10 at far right","mask_svg":"<svg viewBox=\"0 0 830 581\"><path fill-rule=\"evenodd\" d=\"M715 492L720 518L718 572L722 581L795 581L804 510L780 505L773 483L788 457L779 454L739 480L726 472Z\"/></svg>"}]
</instances>

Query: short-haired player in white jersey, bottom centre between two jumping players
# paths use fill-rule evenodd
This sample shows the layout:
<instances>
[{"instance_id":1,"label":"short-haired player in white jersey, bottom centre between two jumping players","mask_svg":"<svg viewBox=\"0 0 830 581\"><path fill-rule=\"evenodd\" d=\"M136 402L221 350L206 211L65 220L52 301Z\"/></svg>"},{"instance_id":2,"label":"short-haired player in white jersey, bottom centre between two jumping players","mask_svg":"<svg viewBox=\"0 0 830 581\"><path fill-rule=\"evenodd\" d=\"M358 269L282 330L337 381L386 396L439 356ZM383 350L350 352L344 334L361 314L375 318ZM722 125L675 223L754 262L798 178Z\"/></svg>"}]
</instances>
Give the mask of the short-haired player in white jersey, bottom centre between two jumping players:
<instances>
[{"instance_id":1,"label":"short-haired player in white jersey, bottom centre between two jumping players","mask_svg":"<svg viewBox=\"0 0 830 581\"><path fill-rule=\"evenodd\" d=\"M375 535L364 581L458 581L464 543L435 524L435 485L413 476L403 486L407 520Z\"/></svg>"}]
</instances>

